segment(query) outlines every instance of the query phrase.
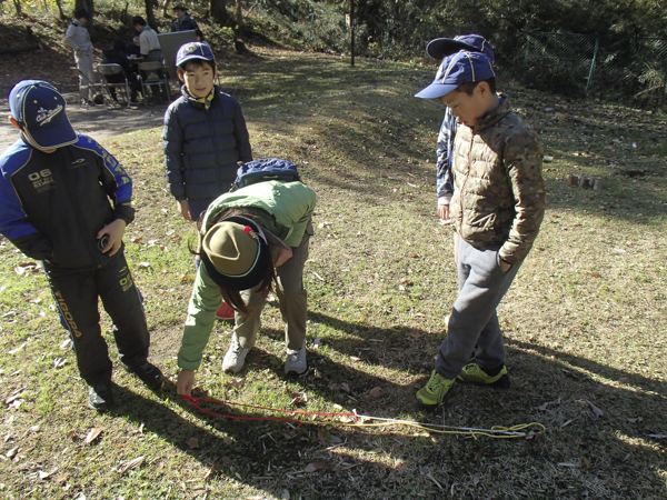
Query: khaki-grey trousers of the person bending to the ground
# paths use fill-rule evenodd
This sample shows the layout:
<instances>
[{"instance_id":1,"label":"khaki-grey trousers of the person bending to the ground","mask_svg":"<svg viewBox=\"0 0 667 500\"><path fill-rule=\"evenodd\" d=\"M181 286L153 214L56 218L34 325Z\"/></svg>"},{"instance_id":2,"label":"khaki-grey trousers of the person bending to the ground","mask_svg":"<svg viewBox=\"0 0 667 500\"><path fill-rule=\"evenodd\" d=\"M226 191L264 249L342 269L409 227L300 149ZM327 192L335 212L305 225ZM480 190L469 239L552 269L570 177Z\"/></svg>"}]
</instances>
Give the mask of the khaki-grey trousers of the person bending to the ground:
<instances>
[{"instance_id":1,"label":"khaki-grey trousers of the person bending to the ground","mask_svg":"<svg viewBox=\"0 0 667 500\"><path fill-rule=\"evenodd\" d=\"M280 303L280 314L285 321L285 342L289 349L299 350L306 340L307 297L303 289L303 264L308 260L308 243L312 234L312 224L308 222L301 244L292 248L292 257L276 269L278 286L276 294ZM255 346L257 332L261 327L261 311L266 298L253 290L241 292L243 301L250 307L249 316L236 312L236 336L243 349Z\"/></svg>"}]
</instances>

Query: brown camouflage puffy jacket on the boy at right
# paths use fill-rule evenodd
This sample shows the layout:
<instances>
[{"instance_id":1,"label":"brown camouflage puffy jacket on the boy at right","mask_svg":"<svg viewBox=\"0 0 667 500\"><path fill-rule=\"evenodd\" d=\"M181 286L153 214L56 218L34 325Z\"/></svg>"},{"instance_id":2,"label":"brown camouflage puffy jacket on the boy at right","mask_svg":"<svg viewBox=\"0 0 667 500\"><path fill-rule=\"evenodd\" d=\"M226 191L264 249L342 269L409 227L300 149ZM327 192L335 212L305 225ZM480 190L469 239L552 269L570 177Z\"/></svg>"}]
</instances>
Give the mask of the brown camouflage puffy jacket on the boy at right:
<instances>
[{"instance_id":1,"label":"brown camouflage puffy jacket on the boy at right","mask_svg":"<svg viewBox=\"0 0 667 500\"><path fill-rule=\"evenodd\" d=\"M449 206L456 232L476 248L501 244L509 263L522 261L545 212L542 156L537 136L507 100L475 129L459 124Z\"/></svg>"}]
</instances>

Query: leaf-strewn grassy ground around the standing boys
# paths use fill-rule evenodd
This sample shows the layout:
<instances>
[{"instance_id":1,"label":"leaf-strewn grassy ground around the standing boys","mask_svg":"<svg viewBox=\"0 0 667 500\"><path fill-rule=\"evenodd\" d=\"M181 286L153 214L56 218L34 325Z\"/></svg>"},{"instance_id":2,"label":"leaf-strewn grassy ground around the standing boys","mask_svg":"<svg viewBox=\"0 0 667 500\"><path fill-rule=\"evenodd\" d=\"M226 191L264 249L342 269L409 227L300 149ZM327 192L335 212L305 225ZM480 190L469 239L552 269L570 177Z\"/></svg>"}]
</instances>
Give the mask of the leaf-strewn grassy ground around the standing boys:
<instances>
[{"instance_id":1,"label":"leaf-strewn grassy ground around the standing boys","mask_svg":"<svg viewBox=\"0 0 667 500\"><path fill-rule=\"evenodd\" d=\"M255 157L293 160L318 193L306 271L310 370L282 374L272 302L239 376L220 372L229 326L218 323L200 393L448 426L539 422L544 434L471 439L415 428L232 421L192 408L173 384L153 394L120 369L116 409L96 414L73 353L63 349L43 273L21 268L27 259L2 241L3 498L665 498L664 118L509 91L555 158L545 163L541 233L499 307L512 387L455 387L441 411L426 413L414 394L456 297L451 229L435 214L442 109L412 98L435 68L347 63L266 52L223 69ZM135 180L127 254L146 299L151 358L173 377L193 229L177 218L166 190L159 129L104 146ZM604 189L567 188L568 173L600 176ZM112 346L106 317L103 326ZM87 440L91 431L99 436Z\"/></svg>"}]
</instances>

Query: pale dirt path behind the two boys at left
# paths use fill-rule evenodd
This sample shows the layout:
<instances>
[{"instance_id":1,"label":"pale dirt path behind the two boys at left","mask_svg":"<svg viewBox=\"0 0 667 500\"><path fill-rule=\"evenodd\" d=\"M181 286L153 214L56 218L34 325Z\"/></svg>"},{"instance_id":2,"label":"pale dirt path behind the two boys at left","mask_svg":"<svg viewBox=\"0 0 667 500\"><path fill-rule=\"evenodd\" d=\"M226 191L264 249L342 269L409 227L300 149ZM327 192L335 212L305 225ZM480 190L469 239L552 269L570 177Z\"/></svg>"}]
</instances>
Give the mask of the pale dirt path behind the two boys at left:
<instances>
[{"instance_id":1,"label":"pale dirt path behind the two boys at left","mask_svg":"<svg viewBox=\"0 0 667 500\"><path fill-rule=\"evenodd\" d=\"M74 130L98 141L135 130L161 127L167 109L166 104L139 106L135 109L104 109L103 106L80 109L76 94L66 94L66 99L67 114ZM0 152L18 138L17 129L7 117L9 117L9 104L3 99L0 102Z\"/></svg>"}]
</instances>

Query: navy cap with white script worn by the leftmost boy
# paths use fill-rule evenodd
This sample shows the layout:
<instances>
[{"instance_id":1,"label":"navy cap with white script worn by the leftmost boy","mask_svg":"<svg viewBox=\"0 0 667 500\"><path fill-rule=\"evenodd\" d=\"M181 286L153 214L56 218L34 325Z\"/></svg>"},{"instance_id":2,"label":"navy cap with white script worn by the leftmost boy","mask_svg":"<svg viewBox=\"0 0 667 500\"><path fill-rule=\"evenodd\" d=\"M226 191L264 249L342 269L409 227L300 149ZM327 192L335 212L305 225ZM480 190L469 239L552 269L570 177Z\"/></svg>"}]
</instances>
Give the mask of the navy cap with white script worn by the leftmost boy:
<instances>
[{"instance_id":1,"label":"navy cap with white script worn by the leftmost boy","mask_svg":"<svg viewBox=\"0 0 667 500\"><path fill-rule=\"evenodd\" d=\"M9 109L22 132L41 149L77 142L77 133L64 112L64 98L49 82L20 81L9 92Z\"/></svg>"}]
</instances>

